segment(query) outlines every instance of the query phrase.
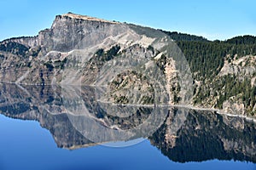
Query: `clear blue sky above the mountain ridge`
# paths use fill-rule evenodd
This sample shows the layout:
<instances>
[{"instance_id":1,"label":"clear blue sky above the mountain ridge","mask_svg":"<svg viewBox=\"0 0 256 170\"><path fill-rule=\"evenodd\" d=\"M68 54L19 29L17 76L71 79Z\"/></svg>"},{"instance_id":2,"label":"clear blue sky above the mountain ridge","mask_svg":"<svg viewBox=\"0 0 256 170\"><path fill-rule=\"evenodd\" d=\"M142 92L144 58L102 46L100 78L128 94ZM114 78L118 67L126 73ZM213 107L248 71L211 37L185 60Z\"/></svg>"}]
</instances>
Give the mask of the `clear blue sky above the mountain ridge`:
<instances>
[{"instance_id":1,"label":"clear blue sky above the mountain ridge","mask_svg":"<svg viewBox=\"0 0 256 170\"><path fill-rule=\"evenodd\" d=\"M0 41L34 36L69 11L167 31L227 39L256 36L254 0L0 0Z\"/></svg>"}]
</instances>

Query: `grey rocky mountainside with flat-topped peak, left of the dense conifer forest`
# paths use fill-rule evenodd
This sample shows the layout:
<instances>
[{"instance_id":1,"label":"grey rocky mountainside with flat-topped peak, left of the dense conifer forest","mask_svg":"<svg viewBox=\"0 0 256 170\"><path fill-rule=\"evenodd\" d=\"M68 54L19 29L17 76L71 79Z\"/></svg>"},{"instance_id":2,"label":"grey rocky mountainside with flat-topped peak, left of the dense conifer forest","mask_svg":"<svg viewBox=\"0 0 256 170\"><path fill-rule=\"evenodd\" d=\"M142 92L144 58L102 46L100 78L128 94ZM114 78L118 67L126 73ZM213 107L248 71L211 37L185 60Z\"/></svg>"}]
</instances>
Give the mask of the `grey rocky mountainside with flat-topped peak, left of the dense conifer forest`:
<instances>
[{"instance_id":1,"label":"grey rocky mountainside with flat-topped peak, left of the dense conifer forest","mask_svg":"<svg viewBox=\"0 0 256 170\"><path fill-rule=\"evenodd\" d=\"M62 14L37 37L13 38L0 45L0 81L105 87L122 79L116 83L128 83L122 83L122 88L121 84L111 86L108 96L101 99L145 105L191 103L189 66L182 62L186 59L177 45L161 31ZM159 54L165 59L159 61Z\"/></svg>"}]
</instances>

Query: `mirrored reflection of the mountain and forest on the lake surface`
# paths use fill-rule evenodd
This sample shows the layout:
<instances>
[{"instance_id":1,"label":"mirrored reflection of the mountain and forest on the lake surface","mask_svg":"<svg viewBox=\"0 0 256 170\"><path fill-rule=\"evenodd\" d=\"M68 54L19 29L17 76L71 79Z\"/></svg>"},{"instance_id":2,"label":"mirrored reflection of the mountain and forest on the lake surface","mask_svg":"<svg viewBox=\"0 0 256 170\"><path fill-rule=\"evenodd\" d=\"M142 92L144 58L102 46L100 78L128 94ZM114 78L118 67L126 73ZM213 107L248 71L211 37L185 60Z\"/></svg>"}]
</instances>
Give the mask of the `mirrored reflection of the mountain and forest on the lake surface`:
<instances>
[{"instance_id":1,"label":"mirrored reflection of the mountain and forest on the lake surface","mask_svg":"<svg viewBox=\"0 0 256 170\"><path fill-rule=\"evenodd\" d=\"M0 83L0 89L1 114L40 122L60 148L149 139L172 161L256 162L255 123L239 117L186 108L102 103L93 87Z\"/></svg>"}]
</instances>

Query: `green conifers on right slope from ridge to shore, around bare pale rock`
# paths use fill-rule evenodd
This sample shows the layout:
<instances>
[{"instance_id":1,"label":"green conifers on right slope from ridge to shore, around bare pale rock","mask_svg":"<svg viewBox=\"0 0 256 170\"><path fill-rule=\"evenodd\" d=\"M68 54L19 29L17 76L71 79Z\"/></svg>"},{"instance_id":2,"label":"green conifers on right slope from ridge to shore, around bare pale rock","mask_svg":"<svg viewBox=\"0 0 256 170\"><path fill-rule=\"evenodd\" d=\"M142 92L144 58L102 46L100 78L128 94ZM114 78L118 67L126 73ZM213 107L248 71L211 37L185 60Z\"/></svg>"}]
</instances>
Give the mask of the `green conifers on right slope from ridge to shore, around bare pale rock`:
<instances>
[{"instance_id":1,"label":"green conifers on right slope from ridge to shore, around bare pale rock","mask_svg":"<svg viewBox=\"0 0 256 170\"><path fill-rule=\"evenodd\" d=\"M241 79L235 74L218 77L218 73L223 68L225 59L230 63L246 55L256 55L256 37L234 37L226 41L212 42L189 34L163 32L177 42L189 62L193 77L201 82L201 86L197 87L197 93L196 90L194 93L195 104L203 104L207 99L217 99L214 106L222 108L224 101L235 97L236 100L242 101L248 114L255 114L253 106L256 89L251 86L252 75ZM162 64L164 62L161 60L157 63Z\"/></svg>"}]
</instances>

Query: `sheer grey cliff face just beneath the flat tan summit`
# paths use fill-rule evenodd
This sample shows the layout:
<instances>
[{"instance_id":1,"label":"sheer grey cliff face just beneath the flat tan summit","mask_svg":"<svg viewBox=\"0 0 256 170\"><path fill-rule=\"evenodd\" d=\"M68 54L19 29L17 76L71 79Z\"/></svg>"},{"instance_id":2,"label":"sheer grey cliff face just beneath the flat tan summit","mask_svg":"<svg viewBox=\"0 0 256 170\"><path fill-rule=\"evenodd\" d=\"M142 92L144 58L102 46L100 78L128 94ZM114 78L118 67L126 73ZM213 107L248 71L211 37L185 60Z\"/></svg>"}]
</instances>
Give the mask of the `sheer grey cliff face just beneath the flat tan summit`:
<instances>
[{"instance_id":1,"label":"sheer grey cliff face just beneath the flat tan summit","mask_svg":"<svg viewBox=\"0 0 256 170\"><path fill-rule=\"evenodd\" d=\"M73 49L95 47L106 38L116 37L127 30L125 25L119 23L77 16L57 15L51 28L39 33L39 44L47 51L69 52Z\"/></svg>"}]
</instances>

